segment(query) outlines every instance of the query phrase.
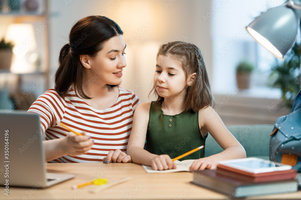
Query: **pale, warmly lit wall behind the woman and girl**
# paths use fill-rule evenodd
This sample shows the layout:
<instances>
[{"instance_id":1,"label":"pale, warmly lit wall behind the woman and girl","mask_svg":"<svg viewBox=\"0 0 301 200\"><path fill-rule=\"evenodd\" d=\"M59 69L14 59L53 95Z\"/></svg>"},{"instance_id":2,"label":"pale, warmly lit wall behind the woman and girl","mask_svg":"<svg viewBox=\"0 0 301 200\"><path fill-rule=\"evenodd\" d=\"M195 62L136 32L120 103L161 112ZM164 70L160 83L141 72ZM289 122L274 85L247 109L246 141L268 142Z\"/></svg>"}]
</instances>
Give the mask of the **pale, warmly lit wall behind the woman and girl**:
<instances>
[{"instance_id":1,"label":"pale, warmly lit wall behind the woman and girl","mask_svg":"<svg viewBox=\"0 0 301 200\"><path fill-rule=\"evenodd\" d=\"M204 23L202 13L210 10L209 1L172 0L112 0L112 1L49 1L50 79L58 67L61 47L68 43L72 25L88 15L105 15L123 30L127 67L122 87L135 92L141 102L147 102L153 84L156 55L160 44L182 40L196 44L203 51L211 76L210 23Z\"/></svg>"}]
</instances>

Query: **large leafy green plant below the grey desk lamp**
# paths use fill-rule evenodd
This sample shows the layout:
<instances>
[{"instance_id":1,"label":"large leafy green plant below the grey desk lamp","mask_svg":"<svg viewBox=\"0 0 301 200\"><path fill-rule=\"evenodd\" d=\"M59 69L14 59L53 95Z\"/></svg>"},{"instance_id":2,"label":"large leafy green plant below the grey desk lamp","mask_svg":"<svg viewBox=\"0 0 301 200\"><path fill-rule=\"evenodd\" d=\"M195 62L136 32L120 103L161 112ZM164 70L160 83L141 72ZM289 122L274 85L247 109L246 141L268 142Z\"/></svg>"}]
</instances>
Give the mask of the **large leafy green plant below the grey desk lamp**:
<instances>
[{"instance_id":1,"label":"large leafy green plant below the grey desk lamp","mask_svg":"<svg viewBox=\"0 0 301 200\"><path fill-rule=\"evenodd\" d=\"M272 67L269 77L270 85L281 89L281 99L284 105L290 109L293 107L295 97L300 91L300 56L301 44L296 42L284 61L276 60L276 64Z\"/></svg>"}]
</instances>

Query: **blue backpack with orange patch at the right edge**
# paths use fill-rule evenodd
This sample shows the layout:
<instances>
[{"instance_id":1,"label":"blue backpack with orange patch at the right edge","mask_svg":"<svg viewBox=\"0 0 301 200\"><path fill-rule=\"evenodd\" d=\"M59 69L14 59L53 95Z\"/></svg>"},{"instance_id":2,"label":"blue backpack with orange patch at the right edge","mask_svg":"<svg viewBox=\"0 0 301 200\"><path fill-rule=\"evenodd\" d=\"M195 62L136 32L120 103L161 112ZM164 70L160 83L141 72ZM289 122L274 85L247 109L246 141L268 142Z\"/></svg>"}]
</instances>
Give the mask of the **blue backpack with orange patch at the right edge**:
<instances>
[{"instance_id":1,"label":"blue backpack with orange patch at the right edge","mask_svg":"<svg viewBox=\"0 0 301 200\"><path fill-rule=\"evenodd\" d=\"M301 172L301 90L295 98L292 112L275 121L270 138L269 159L291 165Z\"/></svg>"}]
</instances>

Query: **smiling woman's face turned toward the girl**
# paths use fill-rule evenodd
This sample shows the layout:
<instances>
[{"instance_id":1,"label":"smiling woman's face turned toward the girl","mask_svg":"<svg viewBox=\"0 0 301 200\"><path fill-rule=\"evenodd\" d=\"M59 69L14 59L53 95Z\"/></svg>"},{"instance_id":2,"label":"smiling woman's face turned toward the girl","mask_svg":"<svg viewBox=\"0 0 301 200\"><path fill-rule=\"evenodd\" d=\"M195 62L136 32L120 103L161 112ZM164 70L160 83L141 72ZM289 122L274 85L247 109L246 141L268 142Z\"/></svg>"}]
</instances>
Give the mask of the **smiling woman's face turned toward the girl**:
<instances>
[{"instance_id":1,"label":"smiling woman's face turned toward the girl","mask_svg":"<svg viewBox=\"0 0 301 200\"><path fill-rule=\"evenodd\" d=\"M122 82L122 70L126 67L126 43L122 35L114 36L104 43L95 58L89 58L86 70L88 81L97 84L118 85Z\"/></svg>"}]
</instances>

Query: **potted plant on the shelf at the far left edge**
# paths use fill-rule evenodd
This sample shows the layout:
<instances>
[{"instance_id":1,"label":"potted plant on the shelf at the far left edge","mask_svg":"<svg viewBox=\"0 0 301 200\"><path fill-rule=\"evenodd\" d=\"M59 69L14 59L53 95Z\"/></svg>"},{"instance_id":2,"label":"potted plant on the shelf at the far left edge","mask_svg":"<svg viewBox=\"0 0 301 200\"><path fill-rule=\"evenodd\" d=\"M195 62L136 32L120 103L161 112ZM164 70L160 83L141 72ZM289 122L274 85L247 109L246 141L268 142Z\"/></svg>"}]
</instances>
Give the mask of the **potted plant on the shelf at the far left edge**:
<instances>
[{"instance_id":1,"label":"potted plant on the shelf at the far left edge","mask_svg":"<svg viewBox=\"0 0 301 200\"><path fill-rule=\"evenodd\" d=\"M11 59L13 56L14 44L4 39L0 41L0 70L9 71L11 68Z\"/></svg>"}]
</instances>

